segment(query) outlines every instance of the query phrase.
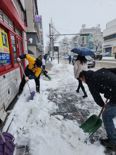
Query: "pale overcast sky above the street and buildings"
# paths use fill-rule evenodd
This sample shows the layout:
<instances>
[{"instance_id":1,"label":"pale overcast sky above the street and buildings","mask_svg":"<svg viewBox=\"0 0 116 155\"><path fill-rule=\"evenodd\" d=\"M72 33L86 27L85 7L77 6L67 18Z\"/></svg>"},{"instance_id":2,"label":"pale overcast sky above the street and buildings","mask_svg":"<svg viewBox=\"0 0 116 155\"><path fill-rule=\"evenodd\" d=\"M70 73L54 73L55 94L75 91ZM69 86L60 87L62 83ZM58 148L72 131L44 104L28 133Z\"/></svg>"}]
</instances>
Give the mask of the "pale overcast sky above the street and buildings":
<instances>
[{"instance_id":1,"label":"pale overcast sky above the street and buildings","mask_svg":"<svg viewBox=\"0 0 116 155\"><path fill-rule=\"evenodd\" d=\"M116 18L116 0L38 0L39 14L43 17L46 42L52 19L60 33L79 33L82 24L95 27Z\"/></svg>"}]
</instances>

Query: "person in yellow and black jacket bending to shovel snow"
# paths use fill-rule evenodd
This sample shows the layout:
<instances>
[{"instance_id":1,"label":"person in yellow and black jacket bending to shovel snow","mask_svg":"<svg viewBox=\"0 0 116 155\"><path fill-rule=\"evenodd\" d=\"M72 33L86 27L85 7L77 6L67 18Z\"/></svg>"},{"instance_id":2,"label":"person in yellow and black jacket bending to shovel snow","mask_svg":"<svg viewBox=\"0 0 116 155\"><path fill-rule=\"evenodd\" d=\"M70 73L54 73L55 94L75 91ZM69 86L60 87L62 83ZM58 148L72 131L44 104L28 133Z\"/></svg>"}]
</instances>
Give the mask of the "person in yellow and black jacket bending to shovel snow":
<instances>
[{"instance_id":1,"label":"person in yellow and black jacket bending to shovel snow","mask_svg":"<svg viewBox=\"0 0 116 155\"><path fill-rule=\"evenodd\" d=\"M22 93L23 88L29 79L35 80L36 91L40 93L40 75L43 72L44 75L47 76L47 73L42 69L42 61L41 59L31 56L30 54L20 55L17 58L17 61L20 63L23 59L28 61L28 65L25 68L25 75L23 75L22 81L20 83L18 94L20 95Z\"/></svg>"}]
</instances>

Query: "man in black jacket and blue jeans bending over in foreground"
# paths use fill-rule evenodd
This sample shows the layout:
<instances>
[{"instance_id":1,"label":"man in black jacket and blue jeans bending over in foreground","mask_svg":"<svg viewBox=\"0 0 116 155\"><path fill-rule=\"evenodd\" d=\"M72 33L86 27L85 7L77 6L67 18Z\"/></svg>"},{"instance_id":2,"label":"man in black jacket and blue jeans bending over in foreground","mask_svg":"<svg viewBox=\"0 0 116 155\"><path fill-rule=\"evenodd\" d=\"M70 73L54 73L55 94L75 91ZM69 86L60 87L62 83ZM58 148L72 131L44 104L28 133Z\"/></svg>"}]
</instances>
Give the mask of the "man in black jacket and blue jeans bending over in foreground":
<instances>
[{"instance_id":1,"label":"man in black jacket and blue jeans bending over in foreground","mask_svg":"<svg viewBox=\"0 0 116 155\"><path fill-rule=\"evenodd\" d=\"M102 118L107 139L100 139L101 144L116 148L116 125L114 123L114 118L116 118L116 74L114 74L114 70L102 68L97 71L82 71L79 79L88 85L95 102L101 107L105 106ZM104 94L104 97L109 100L106 105L100 94Z\"/></svg>"}]
</instances>

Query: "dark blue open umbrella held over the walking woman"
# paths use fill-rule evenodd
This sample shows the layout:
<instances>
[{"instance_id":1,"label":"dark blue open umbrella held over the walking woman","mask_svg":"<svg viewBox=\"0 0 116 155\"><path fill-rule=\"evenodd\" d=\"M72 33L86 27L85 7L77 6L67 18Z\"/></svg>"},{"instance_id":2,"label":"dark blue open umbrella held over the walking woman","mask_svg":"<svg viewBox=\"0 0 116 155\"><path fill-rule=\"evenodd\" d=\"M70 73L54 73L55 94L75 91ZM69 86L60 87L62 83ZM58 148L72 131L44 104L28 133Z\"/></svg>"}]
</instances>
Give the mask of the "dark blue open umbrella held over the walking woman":
<instances>
[{"instance_id":1,"label":"dark blue open umbrella held over the walking woman","mask_svg":"<svg viewBox=\"0 0 116 155\"><path fill-rule=\"evenodd\" d=\"M93 51L85 47L73 48L71 52L79 54L81 56L87 56L87 55L94 56L95 55Z\"/></svg>"}]
</instances>

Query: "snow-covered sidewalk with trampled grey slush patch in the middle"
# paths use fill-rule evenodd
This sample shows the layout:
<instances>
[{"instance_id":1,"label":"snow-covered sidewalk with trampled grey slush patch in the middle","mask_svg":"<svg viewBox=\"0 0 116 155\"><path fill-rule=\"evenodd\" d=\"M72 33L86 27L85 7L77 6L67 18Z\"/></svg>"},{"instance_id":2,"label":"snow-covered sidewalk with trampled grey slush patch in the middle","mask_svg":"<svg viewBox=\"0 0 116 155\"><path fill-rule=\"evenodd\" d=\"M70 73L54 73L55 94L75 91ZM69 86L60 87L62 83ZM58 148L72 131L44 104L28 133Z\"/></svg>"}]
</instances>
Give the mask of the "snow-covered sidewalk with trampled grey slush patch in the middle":
<instances>
[{"instance_id":1,"label":"snow-covered sidewalk with trampled grey slush patch in the middle","mask_svg":"<svg viewBox=\"0 0 116 155\"><path fill-rule=\"evenodd\" d=\"M79 128L82 121L101 108L95 104L89 91L83 99L82 92L76 93L78 81L74 79L73 66L54 60L49 71L52 80L41 76L41 91L34 100L29 96L26 85L4 127L15 137L17 145L27 145L30 155L104 155L99 141L85 143L88 135ZM35 90L33 80L29 81ZM85 85L86 90L88 90ZM105 135L104 128L98 135Z\"/></svg>"}]
</instances>

